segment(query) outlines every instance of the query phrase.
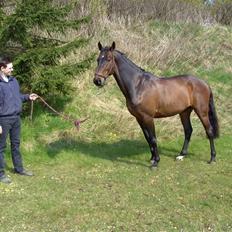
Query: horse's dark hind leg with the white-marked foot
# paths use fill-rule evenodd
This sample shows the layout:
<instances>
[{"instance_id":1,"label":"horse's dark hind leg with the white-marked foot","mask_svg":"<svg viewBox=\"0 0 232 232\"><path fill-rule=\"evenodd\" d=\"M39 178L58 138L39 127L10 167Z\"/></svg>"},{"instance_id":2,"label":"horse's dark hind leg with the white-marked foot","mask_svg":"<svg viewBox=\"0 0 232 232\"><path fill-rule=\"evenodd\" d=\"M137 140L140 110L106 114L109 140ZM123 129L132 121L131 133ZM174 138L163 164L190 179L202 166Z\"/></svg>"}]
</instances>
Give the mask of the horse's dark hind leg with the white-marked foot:
<instances>
[{"instance_id":1,"label":"horse's dark hind leg with the white-marked foot","mask_svg":"<svg viewBox=\"0 0 232 232\"><path fill-rule=\"evenodd\" d=\"M187 155L187 153L188 153L189 141L190 141L192 131L193 131L191 121L190 121L191 112L192 112L192 108L188 108L180 114L180 119L181 119L182 125L184 127L184 137L185 138L184 138L184 144L183 144L183 147L181 149L181 152L176 157L177 160L183 160L185 155Z\"/></svg>"}]
</instances>

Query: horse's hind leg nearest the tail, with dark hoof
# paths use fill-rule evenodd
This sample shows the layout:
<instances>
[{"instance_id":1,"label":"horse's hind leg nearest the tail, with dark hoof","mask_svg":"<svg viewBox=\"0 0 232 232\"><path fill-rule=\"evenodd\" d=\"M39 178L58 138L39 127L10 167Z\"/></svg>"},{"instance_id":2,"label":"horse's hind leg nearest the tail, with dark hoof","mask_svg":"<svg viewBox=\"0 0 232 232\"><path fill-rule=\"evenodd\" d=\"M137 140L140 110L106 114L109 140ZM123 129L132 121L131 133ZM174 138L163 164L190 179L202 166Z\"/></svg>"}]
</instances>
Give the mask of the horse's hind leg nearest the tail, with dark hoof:
<instances>
[{"instance_id":1,"label":"horse's hind leg nearest the tail, with dark hoof","mask_svg":"<svg viewBox=\"0 0 232 232\"><path fill-rule=\"evenodd\" d=\"M214 146L214 134L213 134L213 127L211 126L210 121L209 121L208 109L205 110L204 112L197 112L196 111L196 113L197 113L198 117L200 118L200 120L205 128L208 139L209 139L210 151L211 151L211 157L210 157L209 163L211 163L213 161L215 162L216 161L216 150L215 150L215 146Z\"/></svg>"}]
</instances>

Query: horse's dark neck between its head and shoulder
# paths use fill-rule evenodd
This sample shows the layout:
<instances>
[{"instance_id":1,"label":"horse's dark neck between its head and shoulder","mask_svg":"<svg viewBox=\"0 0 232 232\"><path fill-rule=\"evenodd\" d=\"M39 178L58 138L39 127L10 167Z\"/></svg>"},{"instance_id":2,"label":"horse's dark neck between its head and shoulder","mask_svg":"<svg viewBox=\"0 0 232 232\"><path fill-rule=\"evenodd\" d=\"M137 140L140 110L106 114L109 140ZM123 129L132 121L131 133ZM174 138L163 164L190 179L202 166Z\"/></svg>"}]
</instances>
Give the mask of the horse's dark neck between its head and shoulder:
<instances>
[{"instance_id":1,"label":"horse's dark neck between its head and shoulder","mask_svg":"<svg viewBox=\"0 0 232 232\"><path fill-rule=\"evenodd\" d=\"M117 68L114 77L124 96L133 100L135 98L135 86L142 70L131 64L127 58L119 53L115 55L115 63Z\"/></svg>"}]
</instances>

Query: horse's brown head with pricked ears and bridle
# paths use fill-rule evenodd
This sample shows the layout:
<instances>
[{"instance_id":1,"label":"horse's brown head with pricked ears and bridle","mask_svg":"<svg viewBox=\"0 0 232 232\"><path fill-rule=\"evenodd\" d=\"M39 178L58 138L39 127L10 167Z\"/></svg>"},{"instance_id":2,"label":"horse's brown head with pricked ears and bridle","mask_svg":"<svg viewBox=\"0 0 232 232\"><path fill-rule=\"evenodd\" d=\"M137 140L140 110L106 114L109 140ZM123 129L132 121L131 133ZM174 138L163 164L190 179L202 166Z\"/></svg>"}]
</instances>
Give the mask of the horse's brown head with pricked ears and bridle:
<instances>
[{"instance_id":1,"label":"horse's brown head with pricked ears and bridle","mask_svg":"<svg viewBox=\"0 0 232 232\"><path fill-rule=\"evenodd\" d=\"M114 73L114 55L115 42L112 43L111 47L102 47L101 43L98 42L98 48L100 54L97 58L97 68L95 71L93 82L95 85L102 87L105 84L106 79Z\"/></svg>"}]
</instances>

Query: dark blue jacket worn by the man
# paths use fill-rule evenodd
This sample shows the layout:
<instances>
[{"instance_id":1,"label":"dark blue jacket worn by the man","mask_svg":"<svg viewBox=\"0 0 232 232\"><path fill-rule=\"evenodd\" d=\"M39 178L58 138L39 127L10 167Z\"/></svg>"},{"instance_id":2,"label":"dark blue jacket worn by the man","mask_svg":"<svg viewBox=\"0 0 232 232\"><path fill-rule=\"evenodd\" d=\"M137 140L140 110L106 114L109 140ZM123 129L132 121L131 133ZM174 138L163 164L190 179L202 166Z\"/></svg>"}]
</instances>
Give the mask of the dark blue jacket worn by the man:
<instances>
[{"instance_id":1,"label":"dark blue jacket worn by the man","mask_svg":"<svg viewBox=\"0 0 232 232\"><path fill-rule=\"evenodd\" d=\"M19 83L14 77L5 82L0 77L0 117L15 117L22 111L22 102L29 100L29 94L21 94Z\"/></svg>"}]
</instances>

